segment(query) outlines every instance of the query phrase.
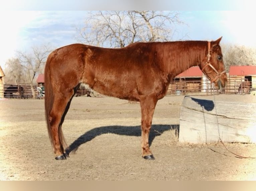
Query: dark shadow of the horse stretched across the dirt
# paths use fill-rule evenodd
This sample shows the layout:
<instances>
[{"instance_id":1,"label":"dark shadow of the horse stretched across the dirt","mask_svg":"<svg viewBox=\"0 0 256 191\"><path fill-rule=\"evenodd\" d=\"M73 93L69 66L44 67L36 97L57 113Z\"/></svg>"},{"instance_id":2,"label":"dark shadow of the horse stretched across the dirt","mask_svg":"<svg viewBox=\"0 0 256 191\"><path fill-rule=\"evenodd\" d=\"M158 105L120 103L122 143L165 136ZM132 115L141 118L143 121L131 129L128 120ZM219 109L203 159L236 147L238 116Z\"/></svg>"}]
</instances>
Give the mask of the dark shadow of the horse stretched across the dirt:
<instances>
[{"instance_id":1,"label":"dark shadow of the horse stretched across the dirt","mask_svg":"<svg viewBox=\"0 0 256 191\"><path fill-rule=\"evenodd\" d=\"M156 136L161 135L164 131L174 130L175 135L178 135L179 125L152 125L149 133L149 145L152 144ZM141 136L140 126L103 126L96 127L91 129L77 138L67 149L66 153L76 152L80 145L92 140L93 138L106 134L113 133L118 135L127 135L127 136Z\"/></svg>"}]
</instances>

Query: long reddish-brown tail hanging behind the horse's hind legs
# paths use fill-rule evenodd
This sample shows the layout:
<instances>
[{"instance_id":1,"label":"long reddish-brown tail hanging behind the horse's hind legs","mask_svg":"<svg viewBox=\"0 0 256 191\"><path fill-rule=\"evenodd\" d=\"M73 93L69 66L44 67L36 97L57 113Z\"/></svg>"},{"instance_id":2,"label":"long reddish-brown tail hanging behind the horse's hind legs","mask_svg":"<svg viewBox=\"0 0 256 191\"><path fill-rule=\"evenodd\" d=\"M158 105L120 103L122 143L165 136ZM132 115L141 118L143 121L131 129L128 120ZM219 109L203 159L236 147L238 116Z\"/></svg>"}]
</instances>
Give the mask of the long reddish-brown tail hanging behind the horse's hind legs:
<instances>
[{"instance_id":1,"label":"long reddish-brown tail hanging behind the horse's hind legs","mask_svg":"<svg viewBox=\"0 0 256 191\"><path fill-rule=\"evenodd\" d=\"M52 60L53 54L51 53L46 61L45 69L44 69L44 109L45 109L45 119L48 129L48 135L50 138L51 145L53 147L53 135L51 132L51 125L50 125L50 111L52 109L53 101L54 101L54 94L53 94L53 87L51 82L51 71L50 71L50 62Z\"/></svg>"}]
</instances>

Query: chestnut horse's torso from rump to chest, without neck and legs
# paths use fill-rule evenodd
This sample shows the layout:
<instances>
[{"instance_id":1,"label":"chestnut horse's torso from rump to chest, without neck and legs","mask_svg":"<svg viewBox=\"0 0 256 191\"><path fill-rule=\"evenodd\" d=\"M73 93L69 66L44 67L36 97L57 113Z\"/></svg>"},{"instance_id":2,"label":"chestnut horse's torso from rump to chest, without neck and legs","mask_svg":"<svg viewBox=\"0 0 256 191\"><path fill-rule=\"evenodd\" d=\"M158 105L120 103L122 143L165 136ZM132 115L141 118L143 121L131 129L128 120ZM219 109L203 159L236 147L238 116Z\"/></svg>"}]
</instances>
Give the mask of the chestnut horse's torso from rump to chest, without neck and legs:
<instances>
[{"instance_id":1,"label":"chestnut horse's torso from rump to chest, without neck and legs","mask_svg":"<svg viewBox=\"0 0 256 191\"><path fill-rule=\"evenodd\" d=\"M63 83L59 86L83 83L104 95L139 100L140 95L155 90L159 91L157 95L163 94L163 86L168 84L154 51L151 43L113 49L71 44L53 51L45 69L55 81Z\"/></svg>"}]
</instances>

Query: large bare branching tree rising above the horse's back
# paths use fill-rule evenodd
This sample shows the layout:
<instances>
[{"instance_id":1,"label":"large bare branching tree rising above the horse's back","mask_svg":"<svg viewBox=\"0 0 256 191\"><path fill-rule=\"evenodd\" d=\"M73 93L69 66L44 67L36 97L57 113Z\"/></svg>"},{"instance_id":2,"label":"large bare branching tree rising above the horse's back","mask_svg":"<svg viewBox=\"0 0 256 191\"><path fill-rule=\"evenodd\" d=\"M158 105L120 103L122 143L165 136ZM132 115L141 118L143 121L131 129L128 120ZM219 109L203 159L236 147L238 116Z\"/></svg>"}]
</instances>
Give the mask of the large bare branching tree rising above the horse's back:
<instances>
[{"instance_id":1,"label":"large bare branching tree rising above the horse's back","mask_svg":"<svg viewBox=\"0 0 256 191\"><path fill-rule=\"evenodd\" d=\"M133 42L170 41L179 21L177 12L90 12L85 27L77 29L82 43L102 47L125 47Z\"/></svg>"}]
</instances>

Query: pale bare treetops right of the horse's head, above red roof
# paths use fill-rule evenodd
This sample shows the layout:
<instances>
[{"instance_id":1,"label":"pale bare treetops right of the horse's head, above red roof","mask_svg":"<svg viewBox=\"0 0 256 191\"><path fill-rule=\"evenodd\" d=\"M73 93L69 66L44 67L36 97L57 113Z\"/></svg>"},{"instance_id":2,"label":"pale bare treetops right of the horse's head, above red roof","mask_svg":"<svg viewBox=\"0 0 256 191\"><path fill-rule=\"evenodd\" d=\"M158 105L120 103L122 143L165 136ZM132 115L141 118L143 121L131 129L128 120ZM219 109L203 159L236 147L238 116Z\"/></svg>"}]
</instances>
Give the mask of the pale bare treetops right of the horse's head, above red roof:
<instances>
[{"instance_id":1,"label":"pale bare treetops right of the horse's head, above red roof","mask_svg":"<svg viewBox=\"0 0 256 191\"><path fill-rule=\"evenodd\" d=\"M256 49L246 46L224 44L222 45L224 64L227 71L230 66L256 65Z\"/></svg>"}]
</instances>

